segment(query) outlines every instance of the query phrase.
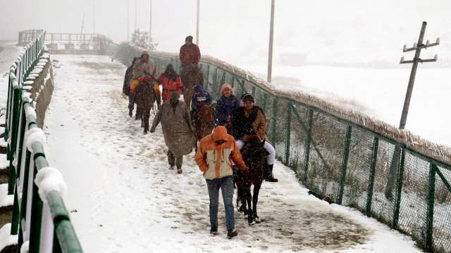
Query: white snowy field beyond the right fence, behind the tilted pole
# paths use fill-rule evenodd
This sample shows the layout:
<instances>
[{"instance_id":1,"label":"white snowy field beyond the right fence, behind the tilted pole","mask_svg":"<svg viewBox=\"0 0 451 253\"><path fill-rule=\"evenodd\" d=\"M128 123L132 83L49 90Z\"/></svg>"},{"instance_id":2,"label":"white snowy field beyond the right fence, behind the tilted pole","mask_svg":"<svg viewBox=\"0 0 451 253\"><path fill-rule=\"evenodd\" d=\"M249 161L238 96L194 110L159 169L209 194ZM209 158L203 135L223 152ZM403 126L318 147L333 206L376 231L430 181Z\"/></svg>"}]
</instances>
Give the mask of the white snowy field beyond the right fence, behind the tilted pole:
<instances>
[{"instance_id":1,"label":"white snowy field beyond the right fence, behind the tilted pole","mask_svg":"<svg viewBox=\"0 0 451 253\"><path fill-rule=\"evenodd\" d=\"M266 77L262 74L266 73L265 65L237 65ZM405 67L374 69L275 65L273 86L283 91L313 94L397 127L400 124L409 74L410 68ZM435 143L451 147L451 132L447 127L451 125L451 115L447 112L450 107L450 82L450 68L424 68L419 65L406 129Z\"/></svg>"}]
</instances>

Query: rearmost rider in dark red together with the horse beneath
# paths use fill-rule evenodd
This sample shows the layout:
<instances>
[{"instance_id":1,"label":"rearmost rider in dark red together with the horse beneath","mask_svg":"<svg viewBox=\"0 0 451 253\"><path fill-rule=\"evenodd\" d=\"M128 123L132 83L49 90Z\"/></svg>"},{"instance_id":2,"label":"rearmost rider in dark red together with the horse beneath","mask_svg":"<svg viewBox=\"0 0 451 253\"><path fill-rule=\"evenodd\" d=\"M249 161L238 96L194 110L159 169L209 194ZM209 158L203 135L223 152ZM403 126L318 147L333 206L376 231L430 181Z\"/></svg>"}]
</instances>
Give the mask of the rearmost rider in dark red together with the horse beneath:
<instances>
[{"instance_id":1,"label":"rearmost rider in dark red together with the horse beneath","mask_svg":"<svg viewBox=\"0 0 451 253\"><path fill-rule=\"evenodd\" d=\"M188 108L191 104L191 96L194 84L204 83L202 70L198 64L200 60L199 46L192 43L192 36L185 39L185 44L180 47L180 77L183 84L183 100Z\"/></svg>"}]
</instances>

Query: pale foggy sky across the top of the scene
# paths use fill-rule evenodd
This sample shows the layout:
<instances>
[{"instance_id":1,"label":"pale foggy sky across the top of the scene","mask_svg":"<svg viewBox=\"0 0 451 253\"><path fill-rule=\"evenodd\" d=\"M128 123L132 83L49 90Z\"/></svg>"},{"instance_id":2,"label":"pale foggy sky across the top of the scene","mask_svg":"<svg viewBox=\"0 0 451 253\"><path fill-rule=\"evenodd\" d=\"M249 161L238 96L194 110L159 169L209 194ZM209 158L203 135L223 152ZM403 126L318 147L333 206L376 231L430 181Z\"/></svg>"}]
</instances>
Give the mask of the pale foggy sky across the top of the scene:
<instances>
[{"instance_id":1,"label":"pale foggy sky across the top of the scene","mask_svg":"<svg viewBox=\"0 0 451 253\"><path fill-rule=\"evenodd\" d=\"M135 0L130 1L130 32L135 29ZM0 0L0 40L17 39L18 31L105 34L127 38L127 0ZM137 0L137 28L149 30L150 0ZM224 60L261 59L267 55L271 0L201 0L199 46ZM161 51L177 52L188 34L195 35L196 0L153 0L152 37ZM418 39L441 44L431 53L449 57L451 1L448 0L276 0L275 56L305 53L309 60L359 62L402 56L402 45ZM433 52L432 52L433 51Z\"/></svg>"}]
</instances>

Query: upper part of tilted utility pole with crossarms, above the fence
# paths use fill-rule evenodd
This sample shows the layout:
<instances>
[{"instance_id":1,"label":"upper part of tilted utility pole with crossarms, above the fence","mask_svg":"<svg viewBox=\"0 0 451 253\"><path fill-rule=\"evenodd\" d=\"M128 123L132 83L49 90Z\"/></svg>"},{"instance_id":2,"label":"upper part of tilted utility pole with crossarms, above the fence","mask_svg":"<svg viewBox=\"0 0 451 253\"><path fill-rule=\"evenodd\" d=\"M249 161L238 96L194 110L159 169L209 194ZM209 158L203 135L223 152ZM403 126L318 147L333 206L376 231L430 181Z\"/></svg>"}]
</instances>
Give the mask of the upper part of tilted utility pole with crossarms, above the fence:
<instances>
[{"instance_id":1,"label":"upper part of tilted utility pole with crossarms, above the fence","mask_svg":"<svg viewBox=\"0 0 451 253\"><path fill-rule=\"evenodd\" d=\"M420 32L418 42L414 43L414 46L412 48L407 48L407 45L404 45L404 48L402 48L403 52L415 51L415 56L414 56L413 60L404 60L404 56L403 56L400 61L401 64L413 63L412 71L410 72L409 85L407 86L406 97L404 99L404 107L402 108L400 129L404 129L404 127L406 126L407 113L409 112L410 97L412 96L412 90L414 89L416 67L418 67L418 63L435 62L435 61L437 61L437 58L438 58L437 55L435 55L435 57L433 59L422 60L420 58L421 49L428 48L431 46L437 46L438 44L440 44L440 39L438 39L438 38L435 41L435 43L433 43L433 44L430 44L429 41L426 41L426 44L423 44L423 38L424 38L425 31L426 31L426 21L424 21L423 25L421 25L421 32Z\"/></svg>"}]
</instances>

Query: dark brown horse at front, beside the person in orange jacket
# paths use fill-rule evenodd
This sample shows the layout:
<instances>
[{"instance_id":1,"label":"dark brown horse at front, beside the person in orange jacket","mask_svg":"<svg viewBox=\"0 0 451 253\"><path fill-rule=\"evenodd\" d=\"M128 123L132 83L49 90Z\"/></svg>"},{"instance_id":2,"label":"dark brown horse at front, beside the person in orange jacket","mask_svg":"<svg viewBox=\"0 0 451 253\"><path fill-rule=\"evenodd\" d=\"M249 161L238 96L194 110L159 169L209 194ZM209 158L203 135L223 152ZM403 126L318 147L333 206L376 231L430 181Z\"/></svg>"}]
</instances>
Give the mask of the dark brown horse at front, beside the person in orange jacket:
<instances>
[{"instance_id":1,"label":"dark brown horse at front, beside the person in orange jacket","mask_svg":"<svg viewBox=\"0 0 451 253\"><path fill-rule=\"evenodd\" d=\"M259 201L261 183L264 180L266 156L268 156L268 151L264 148L264 143L259 136L247 137L247 141L241 149L241 154L247 167L249 167L249 172L242 174L242 176L235 180L237 186L237 205L241 205L238 208L238 212L247 214L249 225L260 223L259 216L257 215L257 202ZM254 185L253 194L251 194L252 185Z\"/></svg>"}]
</instances>

